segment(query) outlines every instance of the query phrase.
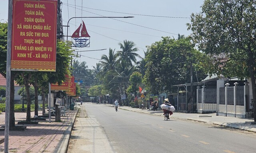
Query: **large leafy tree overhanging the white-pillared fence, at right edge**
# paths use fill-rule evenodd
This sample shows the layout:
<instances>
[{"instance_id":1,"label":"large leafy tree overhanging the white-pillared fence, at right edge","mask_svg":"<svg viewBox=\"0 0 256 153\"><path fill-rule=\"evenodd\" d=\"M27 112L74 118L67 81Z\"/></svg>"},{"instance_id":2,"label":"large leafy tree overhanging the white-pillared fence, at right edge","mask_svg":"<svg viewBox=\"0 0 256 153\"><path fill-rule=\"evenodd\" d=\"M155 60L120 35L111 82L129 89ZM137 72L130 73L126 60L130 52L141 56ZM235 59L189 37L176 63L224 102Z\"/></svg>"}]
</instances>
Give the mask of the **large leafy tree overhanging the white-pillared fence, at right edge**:
<instances>
[{"instance_id":1,"label":"large leafy tree overhanging the white-pillared fence, at right edge","mask_svg":"<svg viewBox=\"0 0 256 153\"><path fill-rule=\"evenodd\" d=\"M192 37L198 48L215 57L210 73L250 77L256 121L256 2L205 0L202 12L191 15ZM222 55L223 58L220 58ZM232 67L230 67L232 66ZM230 70L231 69L231 70Z\"/></svg>"}]
</instances>

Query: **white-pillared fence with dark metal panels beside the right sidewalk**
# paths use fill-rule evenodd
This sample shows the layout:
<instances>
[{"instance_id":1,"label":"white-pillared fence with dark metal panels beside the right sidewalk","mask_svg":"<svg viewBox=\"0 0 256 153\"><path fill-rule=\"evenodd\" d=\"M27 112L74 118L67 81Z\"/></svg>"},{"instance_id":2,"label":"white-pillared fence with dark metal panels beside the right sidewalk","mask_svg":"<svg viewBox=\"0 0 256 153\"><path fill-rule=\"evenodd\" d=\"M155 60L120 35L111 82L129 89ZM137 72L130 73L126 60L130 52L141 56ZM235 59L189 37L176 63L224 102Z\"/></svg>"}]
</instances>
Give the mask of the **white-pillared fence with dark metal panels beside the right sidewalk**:
<instances>
[{"instance_id":1,"label":"white-pillared fence with dark metal panels beside the right sidewalk","mask_svg":"<svg viewBox=\"0 0 256 153\"><path fill-rule=\"evenodd\" d=\"M220 116L245 118L246 105L249 102L249 85L244 86L217 87L217 89L206 89L205 86L197 87L197 112L208 113L217 112ZM218 89L219 88L219 89Z\"/></svg>"}]
</instances>

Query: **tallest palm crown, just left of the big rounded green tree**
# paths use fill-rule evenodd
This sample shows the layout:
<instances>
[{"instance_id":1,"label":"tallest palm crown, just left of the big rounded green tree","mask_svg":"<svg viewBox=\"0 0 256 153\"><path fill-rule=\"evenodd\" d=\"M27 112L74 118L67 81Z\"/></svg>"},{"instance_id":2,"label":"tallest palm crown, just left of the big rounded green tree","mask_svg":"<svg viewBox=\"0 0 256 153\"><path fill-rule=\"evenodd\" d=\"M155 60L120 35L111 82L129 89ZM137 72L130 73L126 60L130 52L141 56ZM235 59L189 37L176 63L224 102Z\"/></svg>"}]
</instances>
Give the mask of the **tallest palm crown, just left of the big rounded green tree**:
<instances>
[{"instance_id":1,"label":"tallest palm crown, just left of the big rounded green tree","mask_svg":"<svg viewBox=\"0 0 256 153\"><path fill-rule=\"evenodd\" d=\"M123 44L118 43L118 45L122 49L120 51L117 51L117 54L120 57L119 61L126 61L127 63L130 63L132 65L132 62L135 63L137 61L136 57L140 57L139 54L135 53L139 49L135 47L134 42L124 40Z\"/></svg>"}]
</instances>

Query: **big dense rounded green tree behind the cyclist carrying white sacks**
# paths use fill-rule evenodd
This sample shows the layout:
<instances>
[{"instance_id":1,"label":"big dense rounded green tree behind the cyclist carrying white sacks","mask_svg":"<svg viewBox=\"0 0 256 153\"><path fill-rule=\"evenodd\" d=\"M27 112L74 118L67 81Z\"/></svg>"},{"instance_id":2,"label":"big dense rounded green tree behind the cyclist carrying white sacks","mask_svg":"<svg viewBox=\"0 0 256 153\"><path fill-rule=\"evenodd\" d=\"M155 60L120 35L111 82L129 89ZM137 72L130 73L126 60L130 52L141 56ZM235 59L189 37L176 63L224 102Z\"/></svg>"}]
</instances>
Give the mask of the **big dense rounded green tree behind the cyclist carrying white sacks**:
<instances>
[{"instance_id":1,"label":"big dense rounded green tree behind the cyclist carrying white sacks","mask_svg":"<svg viewBox=\"0 0 256 153\"><path fill-rule=\"evenodd\" d=\"M143 83L147 89L158 94L163 91L176 91L175 84L190 83L190 62L196 68L193 75L198 80L204 78L205 69L202 66L204 55L194 49L189 38L171 39L162 37L162 40L148 46L146 74ZM201 66L200 66L201 65ZM193 78L197 81L196 77Z\"/></svg>"}]
</instances>

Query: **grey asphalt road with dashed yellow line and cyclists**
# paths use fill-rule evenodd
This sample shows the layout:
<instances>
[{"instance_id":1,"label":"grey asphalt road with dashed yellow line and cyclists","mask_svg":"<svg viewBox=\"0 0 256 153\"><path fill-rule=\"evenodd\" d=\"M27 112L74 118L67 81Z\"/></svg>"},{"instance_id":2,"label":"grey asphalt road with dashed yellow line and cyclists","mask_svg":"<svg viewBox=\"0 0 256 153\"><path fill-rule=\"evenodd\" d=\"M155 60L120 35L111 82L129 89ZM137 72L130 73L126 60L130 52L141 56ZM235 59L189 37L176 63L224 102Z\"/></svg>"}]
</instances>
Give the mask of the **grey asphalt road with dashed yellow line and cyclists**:
<instances>
[{"instance_id":1,"label":"grey asphalt road with dashed yellow line and cyclists","mask_svg":"<svg viewBox=\"0 0 256 153\"><path fill-rule=\"evenodd\" d=\"M84 125L80 135L88 131L94 135L80 138L80 141L91 139L89 147L93 149L88 152L97 153L95 148L100 147L104 148L102 152L116 153L252 153L256 150L256 134L253 133L246 135L221 127L174 120L172 116L166 121L163 116L122 109L116 112L114 107L107 105L84 103L82 107L87 118L80 121ZM93 122L93 126L86 126L88 121ZM94 130L85 130L87 128ZM101 134L101 140L94 146L97 134ZM86 145L84 143L83 147Z\"/></svg>"}]
</instances>

